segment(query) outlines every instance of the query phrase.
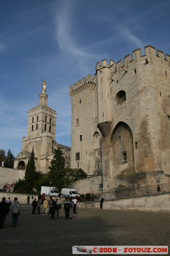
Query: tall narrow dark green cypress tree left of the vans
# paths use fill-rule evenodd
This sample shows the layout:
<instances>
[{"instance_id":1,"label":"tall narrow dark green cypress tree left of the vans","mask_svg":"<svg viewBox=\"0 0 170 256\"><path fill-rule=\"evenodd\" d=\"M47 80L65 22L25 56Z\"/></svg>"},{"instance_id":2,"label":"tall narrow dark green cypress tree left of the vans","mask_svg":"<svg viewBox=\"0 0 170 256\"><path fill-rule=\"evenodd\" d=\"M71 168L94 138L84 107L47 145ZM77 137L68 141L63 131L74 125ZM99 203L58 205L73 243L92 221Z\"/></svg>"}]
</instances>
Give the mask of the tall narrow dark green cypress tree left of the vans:
<instances>
[{"instance_id":1,"label":"tall narrow dark green cypress tree left of the vans","mask_svg":"<svg viewBox=\"0 0 170 256\"><path fill-rule=\"evenodd\" d=\"M31 157L28 160L28 164L26 165L25 172L25 190L27 193L31 193L33 191L33 185L35 181L35 162L34 162L34 153L33 150L31 152Z\"/></svg>"}]
</instances>

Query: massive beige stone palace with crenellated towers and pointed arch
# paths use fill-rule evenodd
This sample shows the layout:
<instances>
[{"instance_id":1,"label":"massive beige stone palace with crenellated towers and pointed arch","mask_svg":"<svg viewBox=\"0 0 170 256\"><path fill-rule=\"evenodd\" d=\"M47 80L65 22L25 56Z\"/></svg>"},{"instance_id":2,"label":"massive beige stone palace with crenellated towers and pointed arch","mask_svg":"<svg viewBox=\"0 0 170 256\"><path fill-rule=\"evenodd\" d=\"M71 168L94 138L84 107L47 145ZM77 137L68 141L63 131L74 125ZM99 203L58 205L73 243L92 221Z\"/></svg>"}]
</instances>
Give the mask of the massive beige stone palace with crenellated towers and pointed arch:
<instances>
[{"instance_id":1,"label":"massive beige stone palace with crenellated towers and pointed arch","mask_svg":"<svg viewBox=\"0 0 170 256\"><path fill-rule=\"evenodd\" d=\"M71 167L103 191L170 182L170 56L150 45L132 56L69 88Z\"/></svg>"}]
</instances>

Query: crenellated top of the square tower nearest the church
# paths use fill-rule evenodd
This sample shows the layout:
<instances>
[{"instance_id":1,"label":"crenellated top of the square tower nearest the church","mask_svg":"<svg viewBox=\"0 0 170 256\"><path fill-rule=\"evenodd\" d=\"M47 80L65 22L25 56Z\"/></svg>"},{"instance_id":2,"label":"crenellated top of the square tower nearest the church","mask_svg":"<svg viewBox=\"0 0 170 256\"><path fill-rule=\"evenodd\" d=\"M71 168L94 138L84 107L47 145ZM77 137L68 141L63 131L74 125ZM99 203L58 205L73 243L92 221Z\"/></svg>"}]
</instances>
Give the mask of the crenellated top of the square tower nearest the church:
<instances>
[{"instance_id":1,"label":"crenellated top of the square tower nearest the church","mask_svg":"<svg viewBox=\"0 0 170 256\"><path fill-rule=\"evenodd\" d=\"M96 77L92 75L88 75L87 77L82 78L77 83L69 86L69 95L70 97L74 97L79 93L92 88L96 90Z\"/></svg>"}]
</instances>

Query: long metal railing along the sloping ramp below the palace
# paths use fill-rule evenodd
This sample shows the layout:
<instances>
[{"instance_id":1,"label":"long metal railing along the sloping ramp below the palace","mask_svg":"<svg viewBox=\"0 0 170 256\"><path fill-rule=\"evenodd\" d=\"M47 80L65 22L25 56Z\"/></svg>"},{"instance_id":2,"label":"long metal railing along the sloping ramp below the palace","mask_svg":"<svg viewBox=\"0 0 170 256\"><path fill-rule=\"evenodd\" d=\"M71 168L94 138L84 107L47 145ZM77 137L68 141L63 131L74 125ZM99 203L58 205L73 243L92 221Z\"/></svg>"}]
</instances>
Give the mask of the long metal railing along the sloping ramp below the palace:
<instances>
[{"instance_id":1,"label":"long metal railing along the sloping ramp below the palace","mask_svg":"<svg viewBox=\"0 0 170 256\"><path fill-rule=\"evenodd\" d=\"M165 192L170 192L170 183L159 184L160 191L158 191L158 185L146 186L146 187L139 187L139 188L129 188L129 189L122 189L122 190L114 190L111 192L105 193L95 193L94 200L92 201L99 201L102 197L105 200L114 200L114 199L122 199L127 197L134 197L134 196L147 196L147 195L154 195L154 194L162 194ZM88 201L88 200L85 200Z\"/></svg>"}]
</instances>

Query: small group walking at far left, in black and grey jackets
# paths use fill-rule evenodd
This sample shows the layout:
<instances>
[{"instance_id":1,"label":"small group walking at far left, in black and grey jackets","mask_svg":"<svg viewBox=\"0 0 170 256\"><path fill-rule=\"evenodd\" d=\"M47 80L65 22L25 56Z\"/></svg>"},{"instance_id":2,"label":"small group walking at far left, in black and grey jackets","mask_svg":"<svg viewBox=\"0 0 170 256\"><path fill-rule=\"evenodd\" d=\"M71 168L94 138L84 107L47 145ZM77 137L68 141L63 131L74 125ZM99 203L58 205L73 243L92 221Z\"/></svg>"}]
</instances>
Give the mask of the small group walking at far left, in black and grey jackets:
<instances>
[{"instance_id":1,"label":"small group walking at far left, in black and grey jackets","mask_svg":"<svg viewBox=\"0 0 170 256\"><path fill-rule=\"evenodd\" d=\"M12 228L16 228L18 216L20 215L20 203L17 197L14 197L14 202L11 202L11 198L6 200L5 197L2 198L0 203L0 228L3 229L6 216L11 211L12 215Z\"/></svg>"}]
</instances>

